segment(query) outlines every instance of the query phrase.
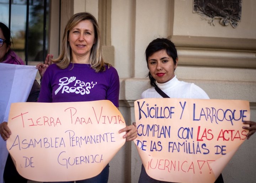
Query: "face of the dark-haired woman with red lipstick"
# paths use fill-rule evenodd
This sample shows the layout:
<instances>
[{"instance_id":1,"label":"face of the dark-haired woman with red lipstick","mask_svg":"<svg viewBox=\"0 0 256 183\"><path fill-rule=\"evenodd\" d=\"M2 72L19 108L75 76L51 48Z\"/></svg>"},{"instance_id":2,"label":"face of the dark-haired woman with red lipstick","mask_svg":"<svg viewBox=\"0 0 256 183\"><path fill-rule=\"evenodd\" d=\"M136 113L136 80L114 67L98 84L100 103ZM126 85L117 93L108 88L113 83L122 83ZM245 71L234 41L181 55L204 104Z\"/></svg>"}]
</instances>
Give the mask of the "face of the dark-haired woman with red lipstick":
<instances>
[{"instance_id":1,"label":"face of the dark-haired woman with red lipstick","mask_svg":"<svg viewBox=\"0 0 256 183\"><path fill-rule=\"evenodd\" d=\"M172 57L165 50L156 51L148 58L149 72L158 83L170 81L175 76L174 70L176 67L177 62L174 65Z\"/></svg>"}]
</instances>

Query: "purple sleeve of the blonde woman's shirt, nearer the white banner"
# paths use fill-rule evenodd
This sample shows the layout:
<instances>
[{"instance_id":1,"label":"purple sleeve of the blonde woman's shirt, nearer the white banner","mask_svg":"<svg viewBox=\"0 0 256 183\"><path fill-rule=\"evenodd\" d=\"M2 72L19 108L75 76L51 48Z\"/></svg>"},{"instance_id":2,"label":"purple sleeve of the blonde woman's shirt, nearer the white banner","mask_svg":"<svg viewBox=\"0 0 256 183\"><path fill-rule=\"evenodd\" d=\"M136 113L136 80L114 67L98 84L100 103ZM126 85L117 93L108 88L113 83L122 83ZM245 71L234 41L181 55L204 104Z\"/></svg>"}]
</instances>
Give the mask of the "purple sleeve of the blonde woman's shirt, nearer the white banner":
<instances>
[{"instance_id":1,"label":"purple sleeve of the blonde woman's shirt, nearer the white banner","mask_svg":"<svg viewBox=\"0 0 256 183\"><path fill-rule=\"evenodd\" d=\"M37 102L52 102L52 87L50 84L50 73L52 68L49 66L43 75L41 90Z\"/></svg>"}]
</instances>

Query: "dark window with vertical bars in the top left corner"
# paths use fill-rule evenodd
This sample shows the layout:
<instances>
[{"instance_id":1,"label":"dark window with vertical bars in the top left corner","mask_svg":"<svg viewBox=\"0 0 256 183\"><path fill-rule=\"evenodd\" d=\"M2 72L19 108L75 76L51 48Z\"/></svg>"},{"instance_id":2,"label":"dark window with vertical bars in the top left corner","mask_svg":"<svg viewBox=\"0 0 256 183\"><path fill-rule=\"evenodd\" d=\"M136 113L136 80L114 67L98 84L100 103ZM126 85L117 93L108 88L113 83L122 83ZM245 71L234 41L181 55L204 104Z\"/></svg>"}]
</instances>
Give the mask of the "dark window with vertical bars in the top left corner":
<instances>
[{"instance_id":1,"label":"dark window with vertical bars in the top left corner","mask_svg":"<svg viewBox=\"0 0 256 183\"><path fill-rule=\"evenodd\" d=\"M48 50L49 0L0 0L0 20L12 32L22 60L44 61Z\"/></svg>"}]
</instances>

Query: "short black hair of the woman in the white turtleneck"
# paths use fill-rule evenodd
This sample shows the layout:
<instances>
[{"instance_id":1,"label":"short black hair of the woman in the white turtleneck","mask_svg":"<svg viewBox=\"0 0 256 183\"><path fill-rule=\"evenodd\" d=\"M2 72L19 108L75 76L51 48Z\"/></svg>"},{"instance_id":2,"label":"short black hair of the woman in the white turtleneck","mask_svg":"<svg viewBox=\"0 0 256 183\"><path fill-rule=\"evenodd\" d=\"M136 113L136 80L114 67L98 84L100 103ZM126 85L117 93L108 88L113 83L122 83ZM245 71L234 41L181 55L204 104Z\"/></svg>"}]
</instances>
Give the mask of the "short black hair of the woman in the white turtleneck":
<instances>
[{"instance_id":1,"label":"short black hair of the woman in the white turtleneck","mask_svg":"<svg viewBox=\"0 0 256 183\"><path fill-rule=\"evenodd\" d=\"M167 55L172 57L172 60L174 61L174 65L176 65L177 63L176 59L178 58L178 55L177 55L177 50L175 48L174 43L172 43L171 40L166 38L157 38L151 41L148 47L146 48L145 55L146 55L147 66L148 66L148 58L151 55L153 55L155 52L160 50L165 50ZM155 78L152 77L150 72L148 73L147 77L149 77L150 79L150 85L152 87L156 87L156 80Z\"/></svg>"}]
</instances>

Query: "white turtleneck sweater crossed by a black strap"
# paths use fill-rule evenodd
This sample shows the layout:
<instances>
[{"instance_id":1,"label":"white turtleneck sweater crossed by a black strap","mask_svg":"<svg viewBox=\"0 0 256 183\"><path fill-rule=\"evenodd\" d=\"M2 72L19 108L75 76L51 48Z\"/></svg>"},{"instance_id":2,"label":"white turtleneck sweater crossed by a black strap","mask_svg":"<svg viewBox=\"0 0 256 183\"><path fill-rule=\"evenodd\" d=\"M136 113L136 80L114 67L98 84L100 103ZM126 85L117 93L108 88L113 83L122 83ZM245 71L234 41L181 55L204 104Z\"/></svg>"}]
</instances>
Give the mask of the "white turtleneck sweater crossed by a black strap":
<instances>
[{"instance_id":1,"label":"white turtleneck sweater crossed by a black strap","mask_svg":"<svg viewBox=\"0 0 256 183\"><path fill-rule=\"evenodd\" d=\"M194 83L178 81L176 76L166 83L156 82L156 85L170 98L209 99L209 96L200 87ZM143 91L142 99L145 98L162 98L162 96L152 87Z\"/></svg>"}]
</instances>

